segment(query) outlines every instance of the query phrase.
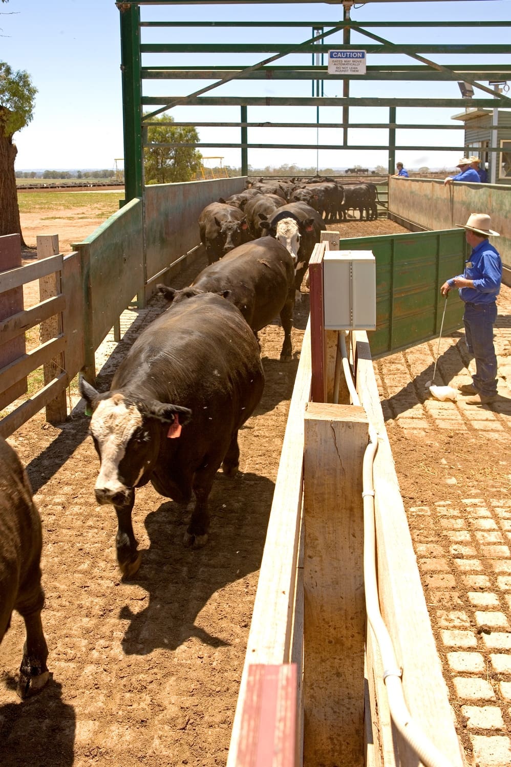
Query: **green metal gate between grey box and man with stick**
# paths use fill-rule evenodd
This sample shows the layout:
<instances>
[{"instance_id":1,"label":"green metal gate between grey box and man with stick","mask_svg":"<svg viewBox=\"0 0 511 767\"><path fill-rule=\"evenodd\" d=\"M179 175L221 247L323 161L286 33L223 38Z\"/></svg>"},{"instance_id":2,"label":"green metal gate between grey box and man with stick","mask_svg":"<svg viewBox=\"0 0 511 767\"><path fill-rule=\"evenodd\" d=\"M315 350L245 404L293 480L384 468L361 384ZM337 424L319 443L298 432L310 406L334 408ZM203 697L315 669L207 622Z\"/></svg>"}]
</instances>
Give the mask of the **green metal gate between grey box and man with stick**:
<instances>
[{"instance_id":1,"label":"green metal gate between grey box and man with stick","mask_svg":"<svg viewBox=\"0 0 511 767\"><path fill-rule=\"evenodd\" d=\"M369 331L373 357L440 333L445 299L440 285L463 272L464 229L341 239L341 250L371 250L376 259L376 330ZM443 333L463 324L457 291L447 301Z\"/></svg>"}]
</instances>

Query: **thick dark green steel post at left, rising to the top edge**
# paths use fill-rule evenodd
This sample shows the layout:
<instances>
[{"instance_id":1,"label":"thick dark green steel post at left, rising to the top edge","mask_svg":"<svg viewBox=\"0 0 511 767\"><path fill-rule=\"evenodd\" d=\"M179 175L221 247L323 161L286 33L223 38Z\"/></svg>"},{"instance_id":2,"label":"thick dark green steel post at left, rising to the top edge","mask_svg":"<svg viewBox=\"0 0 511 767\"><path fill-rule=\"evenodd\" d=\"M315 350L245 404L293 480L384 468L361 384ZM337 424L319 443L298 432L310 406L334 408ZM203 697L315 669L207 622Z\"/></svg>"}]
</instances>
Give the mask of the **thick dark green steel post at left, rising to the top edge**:
<instances>
[{"instance_id":1,"label":"thick dark green steel post at left, rising to the top edge","mask_svg":"<svg viewBox=\"0 0 511 767\"><path fill-rule=\"evenodd\" d=\"M123 88L124 186L130 202L142 196L143 150L140 87L140 9L117 2L120 11L120 71Z\"/></svg>"}]
</instances>

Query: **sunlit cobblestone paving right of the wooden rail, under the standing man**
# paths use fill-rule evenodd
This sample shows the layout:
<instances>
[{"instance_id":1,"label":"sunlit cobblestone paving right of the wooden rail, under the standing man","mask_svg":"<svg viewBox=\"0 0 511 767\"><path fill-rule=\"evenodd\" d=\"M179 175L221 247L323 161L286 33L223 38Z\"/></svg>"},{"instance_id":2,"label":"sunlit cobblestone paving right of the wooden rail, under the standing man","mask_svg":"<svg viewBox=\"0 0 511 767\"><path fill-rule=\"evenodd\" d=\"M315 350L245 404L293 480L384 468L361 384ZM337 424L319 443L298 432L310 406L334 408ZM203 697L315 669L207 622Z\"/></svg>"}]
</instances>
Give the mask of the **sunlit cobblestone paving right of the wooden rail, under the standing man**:
<instances>
[{"instance_id":1,"label":"sunlit cobblestone paving right of the wooden rail, under the standing man","mask_svg":"<svg viewBox=\"0 0 511 767\"><path fill-rule=\"evenodd\" d=\"M437 495L432 488L427 503L417 505L412 489L408 497L404 492L404 505L457 732L474 767L511 764L511 475L504 473L511 444L511 288L503 287L498 304L499 399L492 406L427 397L437 340L374 362L400 482L407 449L420 451L426 470L430 451L453 438L453 450L440 453L428 480ZM472 370L463 329L442 338L435 384L457 387ZM460 483L463 439L472 465L501 465L507 482L493 481L495 474L485 482L482 470Z\"/></svg>"}]
</instances>

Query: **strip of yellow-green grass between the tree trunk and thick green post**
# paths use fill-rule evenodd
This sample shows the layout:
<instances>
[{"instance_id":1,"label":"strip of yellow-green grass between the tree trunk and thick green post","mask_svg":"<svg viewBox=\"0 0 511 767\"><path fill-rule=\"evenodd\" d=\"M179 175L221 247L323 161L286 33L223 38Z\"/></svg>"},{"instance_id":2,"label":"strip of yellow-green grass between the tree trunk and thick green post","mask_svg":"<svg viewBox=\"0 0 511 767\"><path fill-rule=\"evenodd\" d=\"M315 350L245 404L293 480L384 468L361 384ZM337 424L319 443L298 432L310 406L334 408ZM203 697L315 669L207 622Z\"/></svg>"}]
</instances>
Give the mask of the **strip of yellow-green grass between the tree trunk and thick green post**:
<instances>
[{"instance_id":1,"label":"strip of yellow-green grass between the tree trunk and thick green post","mask_svg":"<svg viewBox=\"0 0 511 767\"><path fill-rule=\"evenodd\" d=\"M51 213L59 212L59 217L76 219L77 211L87 209L86 218L101 216L107 219L119 209L122 190L115 192L24 192L18 194L20 213L39 214L41 219L51 218ZM61 216L62 210L67 211ZM79 216L78 216L79 217Z\"/></svg>"}]
</instances>

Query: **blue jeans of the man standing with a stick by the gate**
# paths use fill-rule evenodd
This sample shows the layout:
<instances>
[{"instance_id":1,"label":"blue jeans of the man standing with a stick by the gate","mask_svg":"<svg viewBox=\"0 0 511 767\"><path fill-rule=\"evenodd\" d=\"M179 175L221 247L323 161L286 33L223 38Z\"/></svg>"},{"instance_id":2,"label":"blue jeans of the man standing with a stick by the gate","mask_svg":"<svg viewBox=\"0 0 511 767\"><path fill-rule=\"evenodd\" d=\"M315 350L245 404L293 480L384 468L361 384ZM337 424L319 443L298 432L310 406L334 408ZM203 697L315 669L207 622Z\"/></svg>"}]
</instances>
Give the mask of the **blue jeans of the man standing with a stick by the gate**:
<instances>
[{"instance_id":1,"label":"blue jeans of the man standing with a stick by the gate","mask_svg":"<svg viewBox=\"0 0 511 767\"><path fill-rule=\"evenodd\" d=\"M496 354L493 346L493 325L496 321L496 303L470 304L466 302L463 322L466 346L476 360L473 385L481 394L496 394Z\"/></svg>"}]
</instances>

